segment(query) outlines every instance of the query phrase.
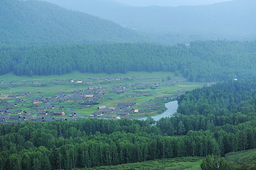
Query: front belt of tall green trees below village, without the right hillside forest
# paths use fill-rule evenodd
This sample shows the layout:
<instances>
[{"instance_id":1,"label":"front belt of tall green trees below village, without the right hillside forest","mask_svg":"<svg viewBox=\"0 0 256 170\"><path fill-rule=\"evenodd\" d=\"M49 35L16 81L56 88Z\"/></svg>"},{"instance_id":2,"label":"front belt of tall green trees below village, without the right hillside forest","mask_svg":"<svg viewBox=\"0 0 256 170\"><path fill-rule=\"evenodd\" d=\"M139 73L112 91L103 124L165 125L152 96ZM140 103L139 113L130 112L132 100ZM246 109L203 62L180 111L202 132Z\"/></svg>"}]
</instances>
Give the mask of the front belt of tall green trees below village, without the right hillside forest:
<instances>
[{"instance_id":1,"label":"front belt of tall green trees below village, without the right hillside forest","mask_svg":"<svg viewBox=\"0 0 256 170\"><path fill-rule=\"evenodd\" d=\"M166 118L162 118L166 119ZM163 120L160 120L163 121ZM166 123L166 122L165 122ZM71 170L255 148L256 121L168 136L172 124L141 120L27 122L0 126L0 169ZM253 143L254 141L254 143ZM224 150L224 151L223 151Z\"/></svg>"}]
</instances>

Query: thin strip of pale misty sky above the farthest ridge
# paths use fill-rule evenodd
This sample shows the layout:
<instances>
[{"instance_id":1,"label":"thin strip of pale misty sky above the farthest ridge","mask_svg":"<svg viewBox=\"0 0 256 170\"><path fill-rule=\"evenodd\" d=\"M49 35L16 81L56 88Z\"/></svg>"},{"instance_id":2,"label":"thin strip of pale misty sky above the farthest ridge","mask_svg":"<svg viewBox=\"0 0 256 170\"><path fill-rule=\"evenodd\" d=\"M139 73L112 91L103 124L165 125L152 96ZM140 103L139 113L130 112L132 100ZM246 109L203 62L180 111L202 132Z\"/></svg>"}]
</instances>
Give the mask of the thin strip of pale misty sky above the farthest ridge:
<instances>
[{"instance_id":1,"label":"thin strip of pale misty sky above the farthest ridge","mask_svg":"<svg viewBox=\"0 0 256 170\"><path fill-rule=\"evenodd\" d=\"M208 5L231 0L115 0L123 4L146 7L158 6L180 6L180 5Z\"/></svg>"}]
</instances>

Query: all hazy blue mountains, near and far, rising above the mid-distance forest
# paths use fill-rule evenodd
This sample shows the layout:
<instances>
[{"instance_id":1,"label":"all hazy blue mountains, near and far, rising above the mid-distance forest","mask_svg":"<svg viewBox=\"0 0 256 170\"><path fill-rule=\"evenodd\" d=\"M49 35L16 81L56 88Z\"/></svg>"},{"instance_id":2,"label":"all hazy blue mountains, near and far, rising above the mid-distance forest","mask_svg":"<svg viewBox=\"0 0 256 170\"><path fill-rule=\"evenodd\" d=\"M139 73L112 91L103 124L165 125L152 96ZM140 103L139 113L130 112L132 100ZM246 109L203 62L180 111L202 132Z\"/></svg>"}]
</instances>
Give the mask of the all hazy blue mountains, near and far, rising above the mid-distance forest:
<instances>
[{"instance_id":1,"label":"all hazy blue mountains, near and far, rising above the mid-distance forest","mask_svg":"<svg viewBox=\"0 0 256 170\"><path fill-rule=\"evenodd\" d=\"M47 1L50 3L1 1L0 44L150 42L174 45L208 39L256 39L253 0L179 7L131 7L114 0Z\"/></svg>"}]
</instances>

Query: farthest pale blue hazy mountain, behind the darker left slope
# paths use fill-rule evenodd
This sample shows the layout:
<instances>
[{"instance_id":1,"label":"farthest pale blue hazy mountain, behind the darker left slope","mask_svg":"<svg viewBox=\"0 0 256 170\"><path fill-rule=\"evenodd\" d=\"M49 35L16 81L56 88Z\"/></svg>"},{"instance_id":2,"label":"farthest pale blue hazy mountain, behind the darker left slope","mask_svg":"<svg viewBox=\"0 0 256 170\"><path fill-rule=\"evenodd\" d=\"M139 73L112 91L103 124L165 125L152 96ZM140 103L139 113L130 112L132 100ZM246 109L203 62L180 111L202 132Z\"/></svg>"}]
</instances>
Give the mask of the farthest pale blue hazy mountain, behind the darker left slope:
<instances>
[{"instance_id":1,"label":"farthest pale blue hazy mountain, behind the darker left slope","mask_svg":"<svg viewBox=\"0 0 256 170\"><path fill-rule=\"evenodd\" d=\"M178 7L126 7L104 0L47 1L109 19L131 29L154 33L162 44L218 38L256 39L254 0Z\"/></svg>"}]
</instances>

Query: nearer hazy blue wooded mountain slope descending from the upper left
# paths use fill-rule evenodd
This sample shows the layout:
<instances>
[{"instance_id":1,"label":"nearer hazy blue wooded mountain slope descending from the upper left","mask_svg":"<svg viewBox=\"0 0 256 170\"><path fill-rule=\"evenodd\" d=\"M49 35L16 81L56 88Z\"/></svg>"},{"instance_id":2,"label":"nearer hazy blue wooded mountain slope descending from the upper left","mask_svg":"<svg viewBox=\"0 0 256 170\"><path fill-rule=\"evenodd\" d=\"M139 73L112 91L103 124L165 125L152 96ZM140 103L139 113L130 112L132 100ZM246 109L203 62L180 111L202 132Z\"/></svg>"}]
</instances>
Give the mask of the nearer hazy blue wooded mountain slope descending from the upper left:
<instances>
[{"instance_id":1,"label":"nearer hazy blue wooded mountain slope descending from the upper left","mask_svg":"<svg viewBox=\"0 0 256 170\"><path fill-rule=\"evenodd\" d=\"M2 0L0 16L0 45L144 41L135 31L109 20L44 1Z\"/></svg>"}]
</instances>

